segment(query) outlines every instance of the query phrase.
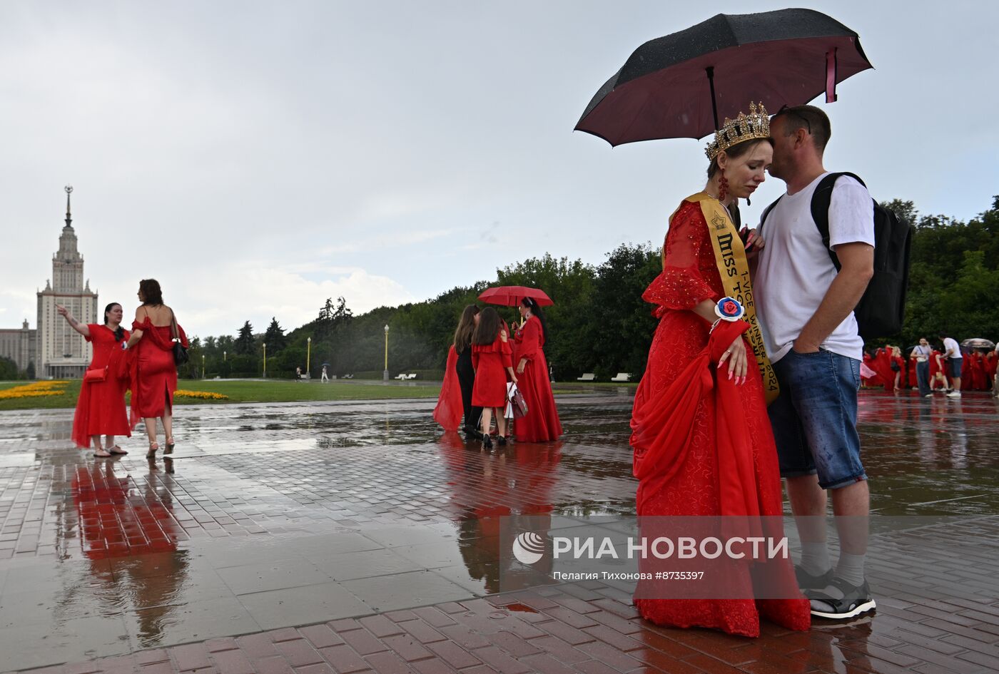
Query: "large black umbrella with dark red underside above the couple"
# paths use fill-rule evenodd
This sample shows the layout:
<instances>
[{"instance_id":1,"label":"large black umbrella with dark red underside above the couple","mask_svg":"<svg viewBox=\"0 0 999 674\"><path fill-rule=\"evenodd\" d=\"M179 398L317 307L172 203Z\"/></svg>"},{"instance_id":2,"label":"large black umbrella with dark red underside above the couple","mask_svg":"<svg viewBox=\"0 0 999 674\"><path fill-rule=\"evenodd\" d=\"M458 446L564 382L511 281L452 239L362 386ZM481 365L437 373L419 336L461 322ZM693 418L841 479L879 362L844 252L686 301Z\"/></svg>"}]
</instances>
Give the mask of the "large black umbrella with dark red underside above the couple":
<instances>
[{"instance_id":1,"label":"large black umbrella with dark red underside above the couple","mask_svg":"<svg viewBox=\"0 0 999 674\"><path fill-rule=\"evenodd\" d=\"M575 125L611 146L703 138L750 101L803 105L873 68L857 34L810 9L718 14L638 47Z\"/></svg>"}]
</instances>

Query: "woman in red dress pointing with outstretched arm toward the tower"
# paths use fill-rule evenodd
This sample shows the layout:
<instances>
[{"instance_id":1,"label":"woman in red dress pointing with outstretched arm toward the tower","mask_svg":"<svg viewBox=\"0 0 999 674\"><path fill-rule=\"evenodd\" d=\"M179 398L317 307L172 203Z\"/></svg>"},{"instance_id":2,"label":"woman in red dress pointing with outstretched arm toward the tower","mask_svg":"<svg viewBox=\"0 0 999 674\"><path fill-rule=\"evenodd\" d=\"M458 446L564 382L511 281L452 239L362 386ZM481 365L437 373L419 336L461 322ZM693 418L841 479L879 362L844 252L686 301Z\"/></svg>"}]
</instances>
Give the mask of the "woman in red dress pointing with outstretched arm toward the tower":
<instances>
[{"instance_id":1,"label":"woman in red dress pointing with outstretched arm toward the tower","mask_svg":"<svg viewBox=\"0 0 999 674\"><path fill-rule=\"evenodd\" d=\"M73 441L78 447L94 442L94 456L106 458L112 454L127 454L115 442L116 435L132 435L125 411L125 389L128 387L122 344L129 337L121 327L122 306L111 303L104 308L104 325L84 325L74 319L65 307L56 305L59 315L87 341L94 345L94 357L80 383L80 397L73 416ZM107 436L105 445L101 435Z\"/></svg>"}]
</instances>

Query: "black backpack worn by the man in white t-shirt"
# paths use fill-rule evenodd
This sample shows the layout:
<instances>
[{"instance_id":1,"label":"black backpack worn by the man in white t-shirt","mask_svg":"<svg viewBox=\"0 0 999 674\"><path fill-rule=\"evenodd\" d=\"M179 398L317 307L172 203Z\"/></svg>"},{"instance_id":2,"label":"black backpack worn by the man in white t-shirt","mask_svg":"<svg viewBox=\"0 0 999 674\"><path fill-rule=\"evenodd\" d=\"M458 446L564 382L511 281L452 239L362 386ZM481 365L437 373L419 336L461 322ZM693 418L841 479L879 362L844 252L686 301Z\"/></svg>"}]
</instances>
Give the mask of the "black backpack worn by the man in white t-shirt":
<instances>
[{"instance_id":1,"label":"black backpack worn by the man in white t-shirt","mask_svg":"<svg viewBox=\"0 0 999 674\"><path fill-rule=\"evenodd\" d=\"M839 272L839 259L829 250L829 203L832 201L832 188L840 176L849 176L864 185L859 176L852 173L830 173L822 179L812 195L811 215L818 232L822 235L822 245L829 252L836 272ZM763 210L760 230L766 217L780 199ZM874 202L874 276L867 284L860 302L853 309L857 319L860 337L890 337L902 331L905 318L905 292L909 287L909 248L912 244L912 228L904 220L899 220L894 212Z\"/></svg>"}]
</instances>

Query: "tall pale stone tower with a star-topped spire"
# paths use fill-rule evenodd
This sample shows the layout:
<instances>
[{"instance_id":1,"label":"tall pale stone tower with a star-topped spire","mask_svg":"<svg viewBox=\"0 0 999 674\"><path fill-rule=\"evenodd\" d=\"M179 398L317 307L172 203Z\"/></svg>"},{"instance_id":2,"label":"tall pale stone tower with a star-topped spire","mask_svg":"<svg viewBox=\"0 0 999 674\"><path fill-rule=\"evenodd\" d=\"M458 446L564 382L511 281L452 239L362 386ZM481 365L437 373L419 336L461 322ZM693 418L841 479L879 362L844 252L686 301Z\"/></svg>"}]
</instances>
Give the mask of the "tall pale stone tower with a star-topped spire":
<instances>
[{"instance_id":1,"label":"tall pale stone tower with a star-topped spire","mask_svg":"<svg viewBox=\"0 0 999 674\"><path fill-rule=\"evenodd\" d=\"M73 187L66 186L66 226L59 237L59 251L52 256L52 279L38 293L38 378L79 378L90 363L90 342L73 330L56 311L62 305L84 324L103 323L97 311L97 293L83 280L83 256L76 247L70 213Z\"/></svg>"}]
</instances>

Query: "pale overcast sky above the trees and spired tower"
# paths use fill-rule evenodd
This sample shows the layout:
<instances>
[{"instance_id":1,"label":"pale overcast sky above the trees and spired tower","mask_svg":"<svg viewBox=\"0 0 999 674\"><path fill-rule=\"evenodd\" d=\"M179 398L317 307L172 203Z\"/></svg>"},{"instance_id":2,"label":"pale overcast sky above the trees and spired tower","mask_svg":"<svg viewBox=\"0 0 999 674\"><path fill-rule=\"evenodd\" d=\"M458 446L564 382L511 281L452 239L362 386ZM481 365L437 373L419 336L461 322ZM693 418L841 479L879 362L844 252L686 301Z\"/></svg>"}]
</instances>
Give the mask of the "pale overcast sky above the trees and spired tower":
<instances>
[{"instance_id":1,"label":"pale overcast sky above the trees and spired tower","mask_svg":"<svg viewBox=\"0 0 999 674\"><path fill-rule=\"evenodd\" d=\"M697 8L700 5L701 8ZM85 276L189 334L297 327L661 242L704 142L572 127L642 42L778 2L0 2L0 328L35 327L72 184ZM991 2L813 2L875 70L826 166L966 220L999 193ZM783 191L768 180L748 220Z\"/></svg>"}]
</instances>

